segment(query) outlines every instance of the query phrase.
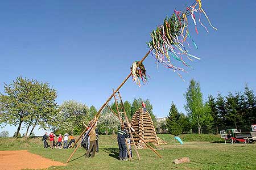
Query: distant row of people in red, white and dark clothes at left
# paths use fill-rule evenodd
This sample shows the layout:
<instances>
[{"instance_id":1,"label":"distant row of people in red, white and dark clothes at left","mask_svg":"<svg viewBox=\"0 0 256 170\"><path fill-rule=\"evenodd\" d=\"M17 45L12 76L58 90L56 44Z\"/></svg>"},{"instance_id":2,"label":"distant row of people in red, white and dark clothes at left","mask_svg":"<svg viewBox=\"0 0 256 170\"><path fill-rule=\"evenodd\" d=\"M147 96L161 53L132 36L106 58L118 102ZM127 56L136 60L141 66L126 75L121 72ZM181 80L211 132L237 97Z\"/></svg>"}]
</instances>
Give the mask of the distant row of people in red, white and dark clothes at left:
<instances>
[{"instance_id":1,"label":"distant row of people in red, white and dark clothes at left","mask_svg":"<svg viewBox=\"0 0 256 170\"><path fill-rule=\"evenodd\" d=\"M55 138L57 138L57 142L55 143ZM68 143L68 138L69 138L69 143ZM44 148L64 148L67 149L69 147L72 146L72 143L75 143L75 137L73 136L73 134L68 135L68 133L63 135L59 134L59 136L57 137L53 132L51 132L49 135L46 132L46 134L43 135L42 141L44 142ZM49 145L48 142L49 141ZM63 144L62 144L63 143Z\"/></svg>"}]
</instances>

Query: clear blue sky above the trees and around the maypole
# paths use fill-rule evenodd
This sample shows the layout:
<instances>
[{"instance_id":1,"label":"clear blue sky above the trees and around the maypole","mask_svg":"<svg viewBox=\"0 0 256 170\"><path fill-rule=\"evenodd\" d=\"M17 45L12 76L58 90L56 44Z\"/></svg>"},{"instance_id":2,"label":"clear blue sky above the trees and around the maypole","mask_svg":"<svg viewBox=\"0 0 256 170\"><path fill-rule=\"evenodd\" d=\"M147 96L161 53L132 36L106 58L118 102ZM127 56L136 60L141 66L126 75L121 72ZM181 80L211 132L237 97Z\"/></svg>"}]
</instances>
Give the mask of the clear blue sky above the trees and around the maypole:
<instances>
[{"instance_id":1,"label":"clear blue sky above the trees and around the maypole","mask_svg":"<svg viewBox=\"0 0 256 170\"><path fill-rule=\"evenodd\" d=\"M147 53L156 25L193 1L3 1L0 5L0 92L17 76L48 82L57 103L77 100L100 108L129 74L133 61ZM121 88L124 100L150 99L157 117L167 116L172 101L184 111L189 80L201 84L204 99L217 92L255 91L256 1L203 1L214 31L190 19L200 61L181 73L185 82L152 56L144 61L151 76L139 88L131 79ZM14 133L15 127L2 130ZM0 129L0 131L2 131Z\"/></svg>"}]
</instances>

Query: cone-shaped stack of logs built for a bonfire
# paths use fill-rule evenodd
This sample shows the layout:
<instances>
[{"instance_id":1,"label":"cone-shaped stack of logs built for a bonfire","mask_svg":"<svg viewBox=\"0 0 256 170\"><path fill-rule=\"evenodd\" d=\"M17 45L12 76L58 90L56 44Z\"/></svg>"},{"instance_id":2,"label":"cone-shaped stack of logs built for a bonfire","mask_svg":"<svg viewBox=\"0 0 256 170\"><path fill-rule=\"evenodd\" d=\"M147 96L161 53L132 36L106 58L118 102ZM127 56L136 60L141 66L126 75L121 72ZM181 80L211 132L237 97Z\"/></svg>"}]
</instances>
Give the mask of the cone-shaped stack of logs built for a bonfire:
<instances>
[{"instance_id":1,"label":"cone-shaped stack of logs built for a bonfire","mask_svg":"<svg viewBox=\"0 0 256 170\"><path fill-rule=\"evenodd\" d=\"M146 111L143 112L142 108L139 108L133 115L133 120L131 120L131 126L134 128L135 132L143 138L145 142L154 143L159 145L158 137L156 137L155 127L150 114ZM137 148L146 148L144 142L139 139L137 135L134 136L135 145Z\"/></svg>"}]
</instances>

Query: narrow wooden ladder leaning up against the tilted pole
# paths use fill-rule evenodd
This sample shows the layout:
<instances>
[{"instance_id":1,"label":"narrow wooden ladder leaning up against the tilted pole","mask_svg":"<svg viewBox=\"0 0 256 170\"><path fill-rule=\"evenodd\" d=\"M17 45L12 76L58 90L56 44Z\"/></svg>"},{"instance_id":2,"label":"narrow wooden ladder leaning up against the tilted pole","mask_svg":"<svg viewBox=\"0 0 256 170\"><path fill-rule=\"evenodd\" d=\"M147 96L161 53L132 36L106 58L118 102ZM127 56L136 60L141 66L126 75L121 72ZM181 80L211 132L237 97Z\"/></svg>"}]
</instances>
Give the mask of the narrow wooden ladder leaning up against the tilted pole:
<instances>
[{"instance_id":1,"label":"narrow wooden ladder leaning up against the tilted pole","mask_svg":"<svg viewBox=\"0 0 256 170\"><path fill-rule=\"evenodd\" d=\"M114 93L114 89L113 89L113 93ZM130 124L127 114L126 114L126 111L125 111L125 107L123 105L122 97L121 97L119 91L114 93L114 99L115 99L115 107L117 108L117 113L118 113L118 118L119 118L120 124L121 125L124 125L125 123L127 125ZM127 152L129 155L129 159L131 160L133 157L133 153L131 151L131 146L134 146L134 150L136 151L138 159L141 160L141 157L139 156L138 149L134 142L133 134L131 133L131 128L129 126L125 126L125 129L126 129L126 131L128 131L127 132L128 138L126 138L126 146L127 146Z\"/></svg>"}]
</instances>

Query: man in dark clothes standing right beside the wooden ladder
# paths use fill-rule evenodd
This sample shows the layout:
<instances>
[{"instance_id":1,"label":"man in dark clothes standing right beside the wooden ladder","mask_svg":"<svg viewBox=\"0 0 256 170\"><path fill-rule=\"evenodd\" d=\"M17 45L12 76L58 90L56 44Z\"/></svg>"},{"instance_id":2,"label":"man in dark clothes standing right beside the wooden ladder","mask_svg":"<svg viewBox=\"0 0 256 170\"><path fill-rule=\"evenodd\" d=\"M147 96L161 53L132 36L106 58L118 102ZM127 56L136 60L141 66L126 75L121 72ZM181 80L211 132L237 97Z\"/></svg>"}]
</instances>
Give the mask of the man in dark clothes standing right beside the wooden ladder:
<instances>
[{"instance_id":1,"label":"man in dark clothes standing right beside the wooden ladder","mask_svg":"<svg viewBox=\"0 0 256 170\"><path fill-rule=\"evenodd\" d=\"M121 130L118 130L117 142L119 147L119 160L127 160L127 147L125 138L128 137L128 134L125 130L125 126L121 125Z\"/></svg>"}]
</instances>

